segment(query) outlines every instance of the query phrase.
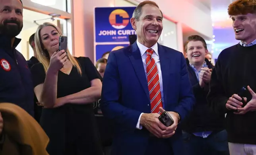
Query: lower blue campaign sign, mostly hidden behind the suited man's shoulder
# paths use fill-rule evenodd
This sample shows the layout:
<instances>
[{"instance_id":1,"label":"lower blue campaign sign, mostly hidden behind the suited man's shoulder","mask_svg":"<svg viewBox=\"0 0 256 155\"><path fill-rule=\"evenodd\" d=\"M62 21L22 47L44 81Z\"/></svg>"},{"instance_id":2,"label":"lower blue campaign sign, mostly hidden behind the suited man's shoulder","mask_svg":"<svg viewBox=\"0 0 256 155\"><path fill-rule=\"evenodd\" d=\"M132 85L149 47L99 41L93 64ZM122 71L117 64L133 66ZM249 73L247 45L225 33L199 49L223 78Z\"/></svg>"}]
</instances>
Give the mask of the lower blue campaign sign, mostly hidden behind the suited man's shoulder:
<instances>
[{"instance_id":1,"label":"lower blue campaign sign, mostly hidden behind the suited man's shoulder","mask_svg":"<svg viewBox=\"0 0 256 155\"><path fill-rule=\"evenodd\" d=\"M115 51L121 49L123 47L128 46L129 44L122 44L122 45L96 45L96 61L100 59L103 53L107 51Z\"/></svg>"}]
</instances>

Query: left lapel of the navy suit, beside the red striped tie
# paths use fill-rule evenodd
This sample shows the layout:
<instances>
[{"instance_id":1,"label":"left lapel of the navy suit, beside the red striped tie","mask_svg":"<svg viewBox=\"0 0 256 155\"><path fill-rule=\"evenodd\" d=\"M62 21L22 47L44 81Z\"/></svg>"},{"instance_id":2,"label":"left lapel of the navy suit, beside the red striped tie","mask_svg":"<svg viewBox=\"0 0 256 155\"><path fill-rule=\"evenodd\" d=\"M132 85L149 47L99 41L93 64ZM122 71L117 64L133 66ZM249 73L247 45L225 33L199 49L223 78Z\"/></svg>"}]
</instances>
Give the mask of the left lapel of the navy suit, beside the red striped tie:
<instances>
[{"instance_id":1,"label":"left lapel of the navy suit, beside the red striped tie","mask_svg":"<svg viewBox=\"0 0 256 155\"><path fill-rule=\"evenodd\" d=\"M132 62L132 66L135 70L136 75L138 76L138 79L147 95L148 100L149 99L149 90L148 90L148 85L147 85L147 78L145 75L145 70L142 62L142 57L140 54L140 49L138 48L137 43L132 44L132 51L130 51L130 61Z\"/></svg>"}]
</instances>

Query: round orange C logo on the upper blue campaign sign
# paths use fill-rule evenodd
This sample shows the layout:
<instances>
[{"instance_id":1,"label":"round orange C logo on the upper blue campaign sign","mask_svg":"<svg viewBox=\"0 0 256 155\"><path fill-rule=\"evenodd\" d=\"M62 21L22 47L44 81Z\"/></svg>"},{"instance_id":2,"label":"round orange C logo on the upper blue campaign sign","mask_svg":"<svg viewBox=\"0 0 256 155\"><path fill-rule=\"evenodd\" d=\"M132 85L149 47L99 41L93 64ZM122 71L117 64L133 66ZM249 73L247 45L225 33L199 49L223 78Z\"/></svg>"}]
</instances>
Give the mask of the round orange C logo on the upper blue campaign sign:
<instances>
[{"instance_id":1,"label":"round orange C logo on the upper blue campaign sign","mask_svg":"<svg viewBox=\"0 0 256 155\"><path fill-rule=\"evenodd\" d=\"M125 28L130 22L129 15L123 9L115 9L109 15L109 23L113 28Z\"/></svg>"}]
</instances>

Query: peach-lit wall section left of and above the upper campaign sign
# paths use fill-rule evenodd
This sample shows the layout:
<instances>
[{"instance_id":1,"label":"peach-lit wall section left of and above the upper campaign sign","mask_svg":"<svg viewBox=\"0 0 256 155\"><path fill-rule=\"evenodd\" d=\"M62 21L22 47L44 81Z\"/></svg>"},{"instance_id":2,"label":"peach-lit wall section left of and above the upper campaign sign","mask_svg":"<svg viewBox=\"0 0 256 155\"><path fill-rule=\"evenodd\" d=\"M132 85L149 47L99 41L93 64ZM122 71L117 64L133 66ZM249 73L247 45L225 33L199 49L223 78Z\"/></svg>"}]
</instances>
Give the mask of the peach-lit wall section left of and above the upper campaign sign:
<instances>
[{"instance_id":1,"label":"peach-lit wall section left of and above the upper campaign sign","mask_svg":"<svg viewBox=\"0 0 256 155\"><path fill-rule=\"evenodd\" d=\"M114 6L114 0L74 0L74 52L76 57L85 56L94 60L94 8Z\"/></svg>"}]
</instances>

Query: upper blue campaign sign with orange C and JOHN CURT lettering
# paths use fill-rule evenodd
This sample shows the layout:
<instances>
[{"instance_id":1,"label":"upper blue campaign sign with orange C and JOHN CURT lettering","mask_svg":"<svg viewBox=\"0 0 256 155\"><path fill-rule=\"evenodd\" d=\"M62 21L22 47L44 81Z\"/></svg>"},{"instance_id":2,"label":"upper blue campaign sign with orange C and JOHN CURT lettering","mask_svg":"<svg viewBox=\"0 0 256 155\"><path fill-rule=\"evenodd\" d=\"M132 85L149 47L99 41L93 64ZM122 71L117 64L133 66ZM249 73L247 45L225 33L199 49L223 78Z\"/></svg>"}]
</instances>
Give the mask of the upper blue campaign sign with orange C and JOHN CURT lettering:
<instances>
[{"instance_id":1,"label":"upper blue campaign sign with orange C and JOHN CURT lettering","mask_svg":"<svg viewBox=\"0 0 256 155\"><path fill-rule=\"evenodd\" d=\"M96 42L129 42L136 34L130 18L135 7L95 8Z\"/></svg>"}]
</instances>

